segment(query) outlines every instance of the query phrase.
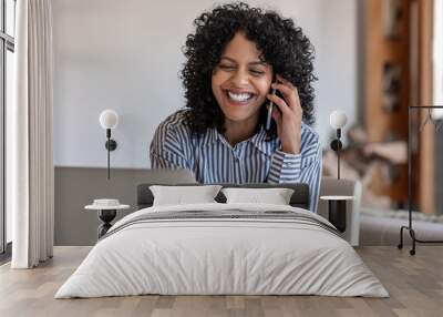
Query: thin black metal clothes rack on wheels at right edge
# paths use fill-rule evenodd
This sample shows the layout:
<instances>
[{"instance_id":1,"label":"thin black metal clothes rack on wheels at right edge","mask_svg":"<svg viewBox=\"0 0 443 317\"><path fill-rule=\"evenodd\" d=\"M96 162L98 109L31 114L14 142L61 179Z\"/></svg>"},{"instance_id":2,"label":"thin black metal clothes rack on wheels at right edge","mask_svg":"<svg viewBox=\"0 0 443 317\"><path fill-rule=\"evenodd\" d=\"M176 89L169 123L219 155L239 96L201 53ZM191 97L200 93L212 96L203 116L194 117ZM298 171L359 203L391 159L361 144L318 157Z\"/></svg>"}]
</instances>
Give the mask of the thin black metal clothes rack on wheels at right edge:
<instances>
[{"instance_id":1,"label":"thin black metal clothes rack on wheels at right edge","mask_svg":"<svg viewBox=\"0 0 443 317\"><path fill-rule=\"evenodd\" d=\"M409 231L409 234L412 238L412 249L410 249L411 255L415 255L415 243L440 243L442 244L443 241L425 241L425 239L418 239L415 237L415 231L412 227L412 142L411 142L411 132L412 132L412 119L411 112L413 110L423 110L426 109L429 111L433 109L443 109L443 105L410 105L408 109L408 208L409 208L409 225L402 226L400 228L400 244L398 248L403 248L403 231ZM431 115L431 113L430 113ZM430 117L426 119L425 124L427 123ZM431 121L432 117L431 117Z\"/></svg>"}]
</instances>

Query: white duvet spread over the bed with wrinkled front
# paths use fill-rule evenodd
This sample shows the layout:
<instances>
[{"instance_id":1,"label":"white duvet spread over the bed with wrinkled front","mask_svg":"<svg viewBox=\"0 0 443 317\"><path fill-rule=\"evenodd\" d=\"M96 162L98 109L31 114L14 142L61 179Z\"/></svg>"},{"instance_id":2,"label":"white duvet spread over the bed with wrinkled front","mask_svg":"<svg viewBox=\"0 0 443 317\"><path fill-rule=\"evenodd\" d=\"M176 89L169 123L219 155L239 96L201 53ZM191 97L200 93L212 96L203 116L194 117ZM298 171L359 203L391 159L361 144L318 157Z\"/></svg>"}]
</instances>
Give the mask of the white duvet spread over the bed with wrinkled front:
<instances>
[{"instance_id":1,"label":"white duvet spread over the bed with wrinkled front","mask_svg":"<svg viewBox=\"0 0 443 317\"><path fill-rule=\"evenodd\" d=\"M281 205L198 204L141 209L119 221L55 298L162 295L326 295L387 297L354 249L330 231L285 219L168 219L146 213L290 211ZM330 225L330 224L329 224ZM120 228L120 229L119 229Z\"/></svg>"}]
</instances>

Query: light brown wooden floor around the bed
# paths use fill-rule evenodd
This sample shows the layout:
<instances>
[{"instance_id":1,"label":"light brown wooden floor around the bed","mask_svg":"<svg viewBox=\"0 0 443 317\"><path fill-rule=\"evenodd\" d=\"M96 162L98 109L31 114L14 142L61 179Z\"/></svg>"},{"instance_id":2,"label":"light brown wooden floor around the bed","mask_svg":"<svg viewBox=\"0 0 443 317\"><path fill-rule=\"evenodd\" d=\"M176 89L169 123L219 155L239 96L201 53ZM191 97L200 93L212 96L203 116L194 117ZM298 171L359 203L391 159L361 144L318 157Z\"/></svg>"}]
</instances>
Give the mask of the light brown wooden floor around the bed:
<instances>
[{"instance_id":1,"label":"light brown wooden floor around the bed","mask_svg":"<svg viewBox=\"0 0 443 317\"><path fill-rule=\"evenodd\" d=\"M0 316L443 316L443 246L358 250L391 297L320 296L133 296L53 299L89 247L55 247L54 258L35 268L0 267Z\"/></svg>"}]
</instances>

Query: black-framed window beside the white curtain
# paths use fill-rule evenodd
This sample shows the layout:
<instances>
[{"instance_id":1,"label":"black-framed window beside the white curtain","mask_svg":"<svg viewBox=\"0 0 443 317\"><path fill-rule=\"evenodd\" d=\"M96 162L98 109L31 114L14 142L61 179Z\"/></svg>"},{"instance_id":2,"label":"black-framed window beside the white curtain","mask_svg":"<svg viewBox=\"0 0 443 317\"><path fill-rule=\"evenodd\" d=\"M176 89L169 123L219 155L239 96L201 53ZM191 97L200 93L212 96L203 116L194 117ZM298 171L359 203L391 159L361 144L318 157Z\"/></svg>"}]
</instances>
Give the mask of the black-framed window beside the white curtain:
<instances>
[{"instance_id":1,"label":"black-framed window beside the white curtain","mask_svg":"<svg viewBox=\"0 0 443 317\"><path fill-rule=\"evenodd\" d=\"M6 208L6 109L12 101L16 0L0 0L0 253L10 249L11 215ZM1 259L1 258L0 258Z\"/></svg>"}]
</instances>

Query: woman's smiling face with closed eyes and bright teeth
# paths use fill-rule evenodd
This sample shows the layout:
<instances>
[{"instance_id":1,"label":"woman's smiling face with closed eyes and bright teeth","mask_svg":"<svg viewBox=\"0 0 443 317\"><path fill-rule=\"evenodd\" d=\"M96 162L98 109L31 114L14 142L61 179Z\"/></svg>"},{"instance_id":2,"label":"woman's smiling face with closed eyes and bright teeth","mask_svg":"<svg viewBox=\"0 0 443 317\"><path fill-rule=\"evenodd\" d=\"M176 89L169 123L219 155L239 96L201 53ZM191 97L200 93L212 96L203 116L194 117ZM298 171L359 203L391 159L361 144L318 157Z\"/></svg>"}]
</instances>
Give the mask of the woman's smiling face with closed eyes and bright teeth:
<instances>
[{"instance_id":1,"label":"woman's smiling face with closed eyes and bright teeth","mask_svg":"<svg viewBox=\"0 0 443 317\"><path fill-rule=\"evenodd\" d=\"M227 130L233 124L255 130L271 80L272 68L262 60L256 43L237 32L226 45L212 79Z\"/></svg>"}]
</instances>

